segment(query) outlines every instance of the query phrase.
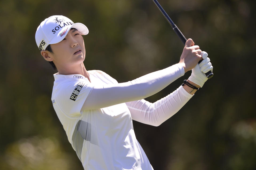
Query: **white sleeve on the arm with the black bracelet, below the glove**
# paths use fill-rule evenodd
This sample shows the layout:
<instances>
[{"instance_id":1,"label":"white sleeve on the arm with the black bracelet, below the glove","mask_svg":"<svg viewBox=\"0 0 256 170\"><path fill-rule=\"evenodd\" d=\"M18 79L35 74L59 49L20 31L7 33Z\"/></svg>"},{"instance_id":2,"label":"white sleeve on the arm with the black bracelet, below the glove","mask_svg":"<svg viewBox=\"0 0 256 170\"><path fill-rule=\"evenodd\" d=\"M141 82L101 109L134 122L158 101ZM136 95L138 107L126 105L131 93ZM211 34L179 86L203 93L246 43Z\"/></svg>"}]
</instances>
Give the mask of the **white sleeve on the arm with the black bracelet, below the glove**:
<instances>
[{"instance_id":1,"label":"white sleeve on the arm with the black bracelet, below the glove","mask_svg":"<svg viewBox=\"0 0 256 170\"><path fill-rule=\"evenodd\" d=\"M192 96L180 86L173 93L154 103L140 100L126 104L133 120L148 125L159 126L177 113Z\"/></svg>"}]
</instances>

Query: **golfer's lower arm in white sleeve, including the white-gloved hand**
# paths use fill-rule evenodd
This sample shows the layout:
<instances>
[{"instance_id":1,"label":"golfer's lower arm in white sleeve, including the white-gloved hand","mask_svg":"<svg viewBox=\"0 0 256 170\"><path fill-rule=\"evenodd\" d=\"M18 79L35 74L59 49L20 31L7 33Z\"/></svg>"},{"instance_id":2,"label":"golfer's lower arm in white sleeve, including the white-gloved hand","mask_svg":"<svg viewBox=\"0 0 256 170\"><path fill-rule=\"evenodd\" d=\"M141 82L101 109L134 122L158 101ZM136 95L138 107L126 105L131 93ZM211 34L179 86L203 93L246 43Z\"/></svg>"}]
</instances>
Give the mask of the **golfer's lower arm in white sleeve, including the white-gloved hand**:
<instances>
[{"instance_id":1,"label":"golfer's lower arm in white sleeve, including the white-gloved hand","mask_svg":"<svg viewBox=\"0 0 256 170\"><path fill-rule=\"evenodd\" d=\"M192 69L192 74L187 80L187 84L183 84L168 96L150 103L144 99L138 101L127 102L126 105L130 110L133 120L148 125L159 126L161 123L169 119L183 107L187 101L197 91L196 88L202 87L208 80L204 73L213 71L210 59L206 58ZM194 86L194 88L191 88Z\"/></svg>"}]
</instances>

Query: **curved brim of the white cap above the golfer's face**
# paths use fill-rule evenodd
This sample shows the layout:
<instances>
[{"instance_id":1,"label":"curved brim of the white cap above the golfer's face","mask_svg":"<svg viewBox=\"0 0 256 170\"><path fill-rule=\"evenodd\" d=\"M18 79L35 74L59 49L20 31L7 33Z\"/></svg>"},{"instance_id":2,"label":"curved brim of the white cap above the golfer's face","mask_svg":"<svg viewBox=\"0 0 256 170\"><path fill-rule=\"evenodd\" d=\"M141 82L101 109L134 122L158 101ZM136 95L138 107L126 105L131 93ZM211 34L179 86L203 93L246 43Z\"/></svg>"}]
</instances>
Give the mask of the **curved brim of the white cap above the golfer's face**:
<instances>
[{"instance_id":1,"label":"curved brim of the white cap above the golfer's face","mask_svg":"<svg viewBox=\"0 0 256 170\"><path fill-rule=\"evenodd\" d=\"M81 35L87 35L89 33L88 28L84 24L82 24L82 23L75 23L73 25L69 25L69 26L63 27L58 32L58 34L50 41L49 44L56 44L56 43L61 42L66 37L67 33L69 32L69 30L71 28L76 28L81 33ZM56 33L57 33L57 31L56 31Z\"/></svg>"}]
</instances>

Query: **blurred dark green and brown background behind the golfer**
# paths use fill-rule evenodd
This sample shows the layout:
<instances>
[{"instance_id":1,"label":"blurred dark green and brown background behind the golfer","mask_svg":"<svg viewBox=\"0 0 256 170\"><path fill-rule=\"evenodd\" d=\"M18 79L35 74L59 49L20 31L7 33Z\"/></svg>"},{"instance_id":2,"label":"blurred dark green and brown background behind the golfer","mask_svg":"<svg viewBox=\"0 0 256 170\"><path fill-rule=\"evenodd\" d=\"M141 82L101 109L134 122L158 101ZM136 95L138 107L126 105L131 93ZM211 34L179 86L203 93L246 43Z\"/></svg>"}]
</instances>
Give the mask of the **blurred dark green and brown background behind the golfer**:
<instances>
[{"instance_id":1,"label":"blurred dark green and brown background behind the golfer","mask_svg":"<svg viewBox=\"0 0 256 170\"><path fill-rule=\"evenodd\" d=\"M159 127L134 122L153 168L256 169L255 2L159 3L208 52L214 77ZM51 15L84 23L86 69L118 82L178 63L183 50L151 0L1 0L0 169L83 169L51 103L55 71L35 43L38 25Z\"/></svg>"}]
</instances>

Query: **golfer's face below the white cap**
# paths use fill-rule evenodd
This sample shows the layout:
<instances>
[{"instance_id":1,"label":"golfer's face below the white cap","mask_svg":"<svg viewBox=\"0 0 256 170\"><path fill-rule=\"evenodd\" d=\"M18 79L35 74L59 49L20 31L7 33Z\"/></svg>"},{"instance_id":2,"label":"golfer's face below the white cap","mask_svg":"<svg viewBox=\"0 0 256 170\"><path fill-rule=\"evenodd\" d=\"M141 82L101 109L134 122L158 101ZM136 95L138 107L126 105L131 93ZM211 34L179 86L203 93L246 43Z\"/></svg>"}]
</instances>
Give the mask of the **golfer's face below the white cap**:
<instances>
[{"instance_id":1,"label":"golfer's face below the white cap","mask_svg":"<svg viewBox=\"0 0 256 170\"><path fill-rule=\"evenodd\" d=\"M85 44L80 32L70 29L66 37L57 44L51 44L53 53L48 53L56 67L72 67L85 60Z\"/></svg>"}]
</instances>

